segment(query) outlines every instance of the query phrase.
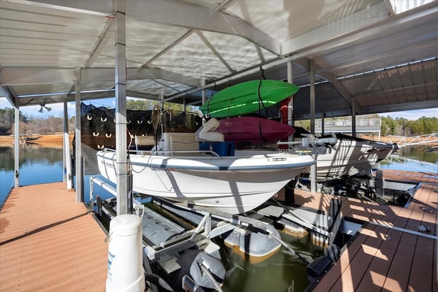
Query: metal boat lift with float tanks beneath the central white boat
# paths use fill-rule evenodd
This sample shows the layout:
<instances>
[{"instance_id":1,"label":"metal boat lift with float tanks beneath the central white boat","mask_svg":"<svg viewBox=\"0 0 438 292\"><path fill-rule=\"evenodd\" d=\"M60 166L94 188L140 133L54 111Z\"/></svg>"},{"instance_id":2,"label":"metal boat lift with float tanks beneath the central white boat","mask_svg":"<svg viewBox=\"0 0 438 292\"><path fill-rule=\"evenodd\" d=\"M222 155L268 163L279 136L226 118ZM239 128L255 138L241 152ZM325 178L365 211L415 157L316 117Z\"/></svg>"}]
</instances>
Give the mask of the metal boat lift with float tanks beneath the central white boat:
<instances>
[{"instance_id":1,"label":"metal boat lift with float tanks beneath the central white boat","mask_svg":"<svg viewBox=\"0 0 438 292\"><path fill-rule=\"evenodd\" d=\"M100 178L90 178L90 207L92 207L95 200L96 213L105 214L106 217L111 219L115 216L116 198L108 200L102 200L99 196L94 198L94 184L103 187L114 196L116 189ZM149 274L151 274L151 263L157 263L166 274L181 269L181 266L177 263L179 253L195 246L207 254L220 257L219 246L211 241L219 235L224 235L224 240L227 243L237 245L240 250L250 256L265 256L283 246L289 254L298 257L305 265L309 265L309 261L311 261L311 258L305 258L298 254L291 245L283 241L274 226L259 220L261 219L259 213L254 213L259 216L255 218L231 215L201 207L185 207L163 198L151 197L151 201L163 209L184 217L185 220L192 222L196 227L185 230L185 228L166 217L144 207L138 200L133 200L133 213L142 217L143 220L144 267ZM251 245L254 244L257 246L252 247ZM205 271L206 267L201 267L201 269L203 274L208 276ZM194 281L187 275L184 279L186 286L191 286L190 283ZM214 284L215 287L216 285L217 283Z\"/></svg>"}]
</instances>

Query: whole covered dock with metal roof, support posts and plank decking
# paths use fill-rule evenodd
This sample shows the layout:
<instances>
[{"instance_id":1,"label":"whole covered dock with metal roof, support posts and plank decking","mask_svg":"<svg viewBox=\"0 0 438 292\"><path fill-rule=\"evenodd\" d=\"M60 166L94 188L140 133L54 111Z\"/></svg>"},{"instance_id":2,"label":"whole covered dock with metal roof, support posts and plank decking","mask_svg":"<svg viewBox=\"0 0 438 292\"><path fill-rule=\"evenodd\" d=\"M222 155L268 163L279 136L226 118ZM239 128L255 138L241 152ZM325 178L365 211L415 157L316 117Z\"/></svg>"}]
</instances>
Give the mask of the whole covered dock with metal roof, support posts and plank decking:
<instances>
[{"instance_id":1,"label":"whole covered dock with metal roof, support posts and plank decking","mask_svg":"<svg viewBox=\"0 0 438 292\"><path fill-rule=\"evenodd\" d=\"M438 107L438 1L299 3L0 0L0 97L15 109L16 133L15 188L0 211L1 291L105 287L105 232L81 204L81 179L70 190L69 159L67 187L19 187L22 107L62 104L67 126L68 104L79 117L82 101L114 98L120 154L127 96L198 106L218 90L266 77L300 87L287 104L288 123L310 119L314 133L315 119L351 115L353 135L359 114ZM77 177L82 127L77 118ZM70 157L68 127L64 136ZM118 166L126 170L127 161ZM127 178L118 173L125 213ZM426 182L407 209L343 199L344 215L368 225L312 288L438 289L437 178L398 178L411 175ZM300 196L315 209L329 202Z\"/></svg>"}]
</instances>

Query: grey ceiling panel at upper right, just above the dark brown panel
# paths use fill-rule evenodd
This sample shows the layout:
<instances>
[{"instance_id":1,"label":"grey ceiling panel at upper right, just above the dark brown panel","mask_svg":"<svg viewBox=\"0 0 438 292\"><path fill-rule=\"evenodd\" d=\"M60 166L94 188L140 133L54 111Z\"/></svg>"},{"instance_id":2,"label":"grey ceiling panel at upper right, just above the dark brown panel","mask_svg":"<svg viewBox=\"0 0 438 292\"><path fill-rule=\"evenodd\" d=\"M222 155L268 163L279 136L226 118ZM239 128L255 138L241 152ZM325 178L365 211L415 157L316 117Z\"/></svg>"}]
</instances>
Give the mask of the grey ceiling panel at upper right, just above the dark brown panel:
<instances>
[{"instance_id":1,"label":"grey ceiling panel at upper right, just above the dark brown panel","mask_svg":"<svg viewBox=\"0 0 438 292\"><path fill-rule=\"evenodd\" d=\"M438 8L432 7L408 18L400 18L345 44L309 55L325 71L337 77L438 55ZM419 34L419 31L421 33Z\"/></svg>"}]
</instances>

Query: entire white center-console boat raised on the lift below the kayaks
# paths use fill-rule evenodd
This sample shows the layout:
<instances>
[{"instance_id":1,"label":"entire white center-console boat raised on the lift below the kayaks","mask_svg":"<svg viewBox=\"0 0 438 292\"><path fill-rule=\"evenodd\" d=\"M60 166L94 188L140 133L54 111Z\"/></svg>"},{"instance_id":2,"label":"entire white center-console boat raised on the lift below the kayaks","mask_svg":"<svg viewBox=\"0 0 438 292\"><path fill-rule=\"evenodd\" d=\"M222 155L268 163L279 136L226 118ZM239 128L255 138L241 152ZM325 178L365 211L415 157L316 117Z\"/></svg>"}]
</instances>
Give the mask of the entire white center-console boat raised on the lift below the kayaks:
<instances>
[{"instance_id":1,"label":"entire white center-console boat raised on the lift below the kayaks","mask_svg":"<svg viewBox=\"0 0 438 292\"><path fill-rule=\"evenodd\" d=\"M211 118L196 133L162 133L152 150L130 152L133 191L244 213L315 163L309 155L234 150L232 142L214 132L218 124ZM116 152L101 150L96 156L101 175L116 182Z\"/></svg>"}]
</instances>

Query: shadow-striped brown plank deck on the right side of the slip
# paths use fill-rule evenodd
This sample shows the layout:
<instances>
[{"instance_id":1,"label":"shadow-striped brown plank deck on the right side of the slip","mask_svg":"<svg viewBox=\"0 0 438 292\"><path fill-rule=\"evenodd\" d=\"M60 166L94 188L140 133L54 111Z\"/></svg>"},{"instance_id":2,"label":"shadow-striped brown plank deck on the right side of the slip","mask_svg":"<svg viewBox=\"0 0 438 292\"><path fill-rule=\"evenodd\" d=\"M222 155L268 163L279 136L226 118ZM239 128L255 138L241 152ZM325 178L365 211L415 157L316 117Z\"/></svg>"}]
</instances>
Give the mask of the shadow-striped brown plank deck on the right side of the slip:
<instances>
[{"instance_id":1,"label":"shadow-striped brown plank deck on the right side of the slip","mask_svg":"<svg viewBox=\"0 0 438 292\"><path fill-rule=\"evenodd\" d=\"M345 216L369 223L313 291L438 291L438 176L393 170L383 176L422 185L407 208L341 197ZM295 192L296 204L324 211L333 197ZM420 233L420 225L430 232Z\"/></svg>"}]
</instances>

